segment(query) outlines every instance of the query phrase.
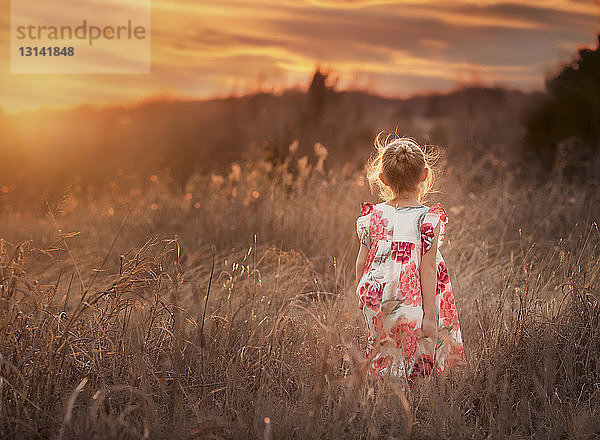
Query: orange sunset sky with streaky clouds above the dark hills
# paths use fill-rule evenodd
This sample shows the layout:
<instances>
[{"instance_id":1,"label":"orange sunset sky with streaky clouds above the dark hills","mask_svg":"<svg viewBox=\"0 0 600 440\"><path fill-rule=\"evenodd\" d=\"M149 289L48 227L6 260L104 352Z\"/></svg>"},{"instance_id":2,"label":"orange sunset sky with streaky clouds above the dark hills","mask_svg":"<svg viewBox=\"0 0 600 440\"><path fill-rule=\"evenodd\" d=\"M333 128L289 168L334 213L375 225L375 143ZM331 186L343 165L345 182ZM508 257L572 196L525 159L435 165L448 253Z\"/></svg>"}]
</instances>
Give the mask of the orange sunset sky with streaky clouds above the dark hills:
<instances>
[{"instance_id":1,"label":"orange sunset sky with streaky clouds above the dark hills","mask_svg":"<svg viewBox=\"0 0 600 440\"><path fill-rule=\"evenodd\" d=\"M150 74L10 73L2 3L0 108L206 98L306 87L315 66L339 88L406 97L478 82L542 89L596 47L594 0L152 0Z\"/></svg>"}]
</instances>

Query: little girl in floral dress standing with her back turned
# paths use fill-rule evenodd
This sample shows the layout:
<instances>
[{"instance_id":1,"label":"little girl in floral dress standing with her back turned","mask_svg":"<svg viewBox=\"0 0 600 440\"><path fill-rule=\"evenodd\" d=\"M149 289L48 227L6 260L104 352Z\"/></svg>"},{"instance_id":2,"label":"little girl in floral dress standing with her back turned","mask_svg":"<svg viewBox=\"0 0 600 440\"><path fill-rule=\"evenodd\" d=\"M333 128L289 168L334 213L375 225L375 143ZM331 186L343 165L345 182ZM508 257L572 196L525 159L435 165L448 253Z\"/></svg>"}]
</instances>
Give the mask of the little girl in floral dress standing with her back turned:
<instances>
[{"instance_id":1,"label":"little girl in floral dress standing with her back turned","mask_svg":"<svg viewBox=\"0 0 600 440\"><path fill-rule=\"evenodd\" d=\"M367 178L384 202L362 203L356 292L369 329L373 375L409 379L464 361L448 270L438 250L448 216L419 201L431 189L428 157L410 138L382 143Z\"/></svg>"}]
</instances>

